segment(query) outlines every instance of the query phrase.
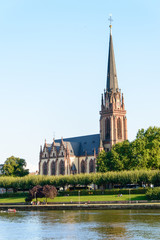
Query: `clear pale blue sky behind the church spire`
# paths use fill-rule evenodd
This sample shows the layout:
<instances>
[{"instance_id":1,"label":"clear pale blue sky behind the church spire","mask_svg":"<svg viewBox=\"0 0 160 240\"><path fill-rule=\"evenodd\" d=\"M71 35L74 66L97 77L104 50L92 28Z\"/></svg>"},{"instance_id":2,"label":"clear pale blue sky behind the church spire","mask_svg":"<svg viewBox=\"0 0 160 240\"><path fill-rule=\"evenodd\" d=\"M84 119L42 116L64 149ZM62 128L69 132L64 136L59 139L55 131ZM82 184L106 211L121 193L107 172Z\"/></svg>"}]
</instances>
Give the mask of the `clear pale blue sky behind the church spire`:
<instances>
[{"instance_id":1,"label":"clear pale blue sky behind the church spire","mask_svg":"<svg viewBox=\"0 0 160 240\"><path fill-rule=\"evenodd\" d=\"M160 127L159 0L0 0L0 163L99 133L109 14L128 139Z\"/></svg>"}]
</instances>

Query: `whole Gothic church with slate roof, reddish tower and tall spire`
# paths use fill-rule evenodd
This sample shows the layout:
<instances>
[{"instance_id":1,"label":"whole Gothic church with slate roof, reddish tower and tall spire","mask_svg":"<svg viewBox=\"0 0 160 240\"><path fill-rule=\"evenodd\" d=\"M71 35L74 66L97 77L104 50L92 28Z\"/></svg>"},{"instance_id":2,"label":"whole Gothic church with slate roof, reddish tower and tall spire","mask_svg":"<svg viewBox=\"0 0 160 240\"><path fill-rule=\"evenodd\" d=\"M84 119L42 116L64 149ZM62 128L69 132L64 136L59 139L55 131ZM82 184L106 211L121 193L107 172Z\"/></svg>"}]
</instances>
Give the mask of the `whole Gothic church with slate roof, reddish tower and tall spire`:
<instances>
[{"instance_id":1,"label":"whole Gothic church with slate roof, reddish tower and tall spire","mask_svg":"<svg viewBox=\"0 0 160 240\"><path fill-rule=\"evenodd\" d=\"M40 175L70 175L96 171L96 157L118 142L127 140L124 96L118 87L110 24L107 84L102 94L100 133L72 138L53 139L40 148Z\"/></svg>"}]
</instances>

